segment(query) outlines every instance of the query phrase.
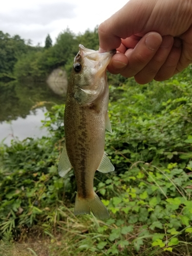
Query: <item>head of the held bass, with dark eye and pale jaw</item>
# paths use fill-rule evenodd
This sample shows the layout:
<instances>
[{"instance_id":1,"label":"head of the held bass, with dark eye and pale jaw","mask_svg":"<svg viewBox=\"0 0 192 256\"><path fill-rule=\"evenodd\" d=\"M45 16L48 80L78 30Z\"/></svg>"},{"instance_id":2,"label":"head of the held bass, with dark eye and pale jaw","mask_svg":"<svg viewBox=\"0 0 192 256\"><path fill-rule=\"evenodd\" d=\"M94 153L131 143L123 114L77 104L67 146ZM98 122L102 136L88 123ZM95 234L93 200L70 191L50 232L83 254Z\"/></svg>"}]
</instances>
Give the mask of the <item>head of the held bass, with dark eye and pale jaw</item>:
<instances>
[{"instance_id":1,"label":"head of the held bass, with dark eye and pale jaw","mask_svg":"<svg viewBox=\"0 0 192 256\"><path fill-rule=\"evenodd\" d=\"M98 53L79 45L73 63L69 90L80 105L93 103L108 85L106 67L116 50Z\"/></svg>"}]
</instances>

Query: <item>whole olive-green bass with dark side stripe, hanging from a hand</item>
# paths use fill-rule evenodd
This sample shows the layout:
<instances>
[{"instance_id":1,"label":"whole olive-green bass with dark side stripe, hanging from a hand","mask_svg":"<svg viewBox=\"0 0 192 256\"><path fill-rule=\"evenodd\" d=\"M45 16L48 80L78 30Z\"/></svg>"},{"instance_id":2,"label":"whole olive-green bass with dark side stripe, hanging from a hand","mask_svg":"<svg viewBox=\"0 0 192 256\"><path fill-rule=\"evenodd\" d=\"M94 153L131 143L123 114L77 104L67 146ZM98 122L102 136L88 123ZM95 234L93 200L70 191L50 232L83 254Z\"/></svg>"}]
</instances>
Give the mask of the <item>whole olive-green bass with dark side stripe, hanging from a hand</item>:
<instances>
[{"instance_id":1,"label":"whole olive-green bass with dark side stripe, hanging from a hand","mask_svg":"<svg viewBox=\"0 0 192 256\"><path fill-rule=\"evenodd\" d=\"M94 175L96 170L101 173L114 170L104 144L105 129L112 133L106 67L115 52L99 53L79 45L67 89L65 143L58 164L61 177L74 169L77 184L74 214L92 211L98 219L109 218L109 212L94 191Z\"/></svg>"}]
</instances>

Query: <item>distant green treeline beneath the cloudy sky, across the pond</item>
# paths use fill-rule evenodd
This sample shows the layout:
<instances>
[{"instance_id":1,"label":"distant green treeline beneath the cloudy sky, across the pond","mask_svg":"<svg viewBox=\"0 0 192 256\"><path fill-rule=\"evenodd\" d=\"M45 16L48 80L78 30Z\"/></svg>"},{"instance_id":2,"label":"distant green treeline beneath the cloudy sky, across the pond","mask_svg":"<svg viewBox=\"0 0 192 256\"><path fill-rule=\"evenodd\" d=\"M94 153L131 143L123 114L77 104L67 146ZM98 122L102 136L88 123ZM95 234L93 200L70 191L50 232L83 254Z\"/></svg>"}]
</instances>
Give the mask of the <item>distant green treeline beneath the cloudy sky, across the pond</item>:
<instances>
[{"instance_id":1,"label":"distant green treeline beneath the cloudy sky, across the pond","mask_svg":"<svg viewBox=\"0 0 192 256\"><path fill-rule=\"evenodd\" d=\"M97 28L78 35L66 29L58 35L53 46L48 35L45 47L33 47L30 40L26 43L19 35L11 37L0 31L0 80L43 81L57 67L62 67L69 74L79 44L98 50Z\"/></svg>"}]
</instances>

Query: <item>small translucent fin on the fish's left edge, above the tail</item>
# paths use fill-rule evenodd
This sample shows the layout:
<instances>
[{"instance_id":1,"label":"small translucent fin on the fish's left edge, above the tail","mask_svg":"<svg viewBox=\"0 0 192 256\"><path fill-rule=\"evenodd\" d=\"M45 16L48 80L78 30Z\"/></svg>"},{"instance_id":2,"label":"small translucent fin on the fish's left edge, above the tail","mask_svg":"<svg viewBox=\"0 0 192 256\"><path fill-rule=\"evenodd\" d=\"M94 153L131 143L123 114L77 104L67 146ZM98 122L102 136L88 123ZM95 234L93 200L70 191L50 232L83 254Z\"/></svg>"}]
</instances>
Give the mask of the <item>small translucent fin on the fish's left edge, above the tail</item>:
<instances>
[{"instance_id":1,"label":"small translucent fin on the fish's left edge, above the tail","mask_svg":"<svg viewBox=\"0 0 192 256\"><path fill-rule=\"evenodd\" d=\"M66 143L63 145L62 152L59 159L58 173L64 177L72 169L71 163L66 150Z\"/></svg>"}]
</instances>

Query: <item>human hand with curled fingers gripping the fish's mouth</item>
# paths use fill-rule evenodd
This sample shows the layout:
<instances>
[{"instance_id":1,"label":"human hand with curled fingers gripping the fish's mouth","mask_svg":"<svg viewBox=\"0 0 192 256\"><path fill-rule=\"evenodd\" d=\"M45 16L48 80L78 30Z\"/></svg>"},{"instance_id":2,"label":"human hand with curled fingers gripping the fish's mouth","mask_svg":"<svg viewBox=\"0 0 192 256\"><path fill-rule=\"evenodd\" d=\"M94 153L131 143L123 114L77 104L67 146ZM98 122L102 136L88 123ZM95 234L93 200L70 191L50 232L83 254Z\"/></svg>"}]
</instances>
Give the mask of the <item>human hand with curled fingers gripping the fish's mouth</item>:
<instances>
[{"instance_id":1,"label":"human hand with curled fingers gripping the fish's mouth","mask_svg":"<svg viewBox=\"0 0 192 256\"><path fill-rule=\"evenodd\" d=\"M130 0L98 33L99 52L117 49L109 72L166 80L192 62L192 0Z\"/></svg>"}]
</instances>

